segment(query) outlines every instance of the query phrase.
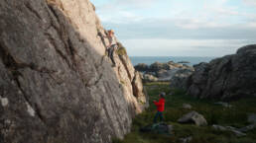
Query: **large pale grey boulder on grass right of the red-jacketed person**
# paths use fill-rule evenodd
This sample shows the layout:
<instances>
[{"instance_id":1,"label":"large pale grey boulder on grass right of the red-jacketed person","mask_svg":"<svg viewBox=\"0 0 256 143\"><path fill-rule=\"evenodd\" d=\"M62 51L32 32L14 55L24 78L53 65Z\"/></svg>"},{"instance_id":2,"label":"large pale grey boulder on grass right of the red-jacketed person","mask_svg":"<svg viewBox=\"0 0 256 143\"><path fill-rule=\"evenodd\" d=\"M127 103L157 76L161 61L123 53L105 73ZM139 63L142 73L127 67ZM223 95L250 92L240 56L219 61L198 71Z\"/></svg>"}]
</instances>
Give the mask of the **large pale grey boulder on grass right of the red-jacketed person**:
<instances>
[{"instance_id":1,"label":"large pale grey boulder on grass right of the red-jacketed person","mask_svg":"<svg viewBox=\"0 0 256 143\"><path fill-rule=\"evenodd\" d=\"M178 119L178 122L180 123L194 123L198 126L207 125L206 119L203 117L203 115L199 114L196 111L191 111L181 118Z\"/></svg>"}]
</instances>

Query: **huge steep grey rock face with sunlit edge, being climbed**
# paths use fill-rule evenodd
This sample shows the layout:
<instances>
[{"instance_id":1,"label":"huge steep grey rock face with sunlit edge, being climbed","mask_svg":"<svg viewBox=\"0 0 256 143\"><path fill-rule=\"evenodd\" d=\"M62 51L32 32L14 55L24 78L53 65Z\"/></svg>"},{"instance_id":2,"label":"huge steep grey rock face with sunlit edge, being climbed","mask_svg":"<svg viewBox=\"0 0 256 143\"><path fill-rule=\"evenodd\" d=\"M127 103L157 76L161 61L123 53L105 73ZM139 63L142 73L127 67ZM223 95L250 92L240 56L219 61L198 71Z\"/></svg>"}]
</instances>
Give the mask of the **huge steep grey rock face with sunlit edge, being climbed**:
<instances>
[{"instance_id":1,"label":"huge steep grey rock face with sunlit edge, being climbed","mask_svg":"<svg viewBox=\"0 0 256 143\"><path fill-rule=\"evenodd\" d=\"M140 77L125 54L111 67L88 0L4 0L0 18L1 142L108 143L130 130Z\"/></svg>"}]
</instances>

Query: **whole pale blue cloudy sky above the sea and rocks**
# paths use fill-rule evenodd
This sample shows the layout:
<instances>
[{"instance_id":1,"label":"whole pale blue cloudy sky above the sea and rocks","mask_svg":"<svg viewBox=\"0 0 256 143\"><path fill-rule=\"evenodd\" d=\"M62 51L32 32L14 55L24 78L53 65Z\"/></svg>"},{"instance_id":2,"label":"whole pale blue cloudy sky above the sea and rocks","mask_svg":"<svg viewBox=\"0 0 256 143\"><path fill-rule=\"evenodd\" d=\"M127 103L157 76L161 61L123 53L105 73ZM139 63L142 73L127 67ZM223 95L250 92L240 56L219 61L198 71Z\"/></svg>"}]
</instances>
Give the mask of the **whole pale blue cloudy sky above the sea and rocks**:
<instances>
[{"instance_id":1,"label":"whole pale blue cloudy sky above the sea and rocks","mask_svg":"<svg viewBox=\"0 0 256 143\"><path fill-rule=\"evenodd\" d=\"M130 56L223 56L256 43L256 0L91 0Z\"/></svg>"}]
</instances>

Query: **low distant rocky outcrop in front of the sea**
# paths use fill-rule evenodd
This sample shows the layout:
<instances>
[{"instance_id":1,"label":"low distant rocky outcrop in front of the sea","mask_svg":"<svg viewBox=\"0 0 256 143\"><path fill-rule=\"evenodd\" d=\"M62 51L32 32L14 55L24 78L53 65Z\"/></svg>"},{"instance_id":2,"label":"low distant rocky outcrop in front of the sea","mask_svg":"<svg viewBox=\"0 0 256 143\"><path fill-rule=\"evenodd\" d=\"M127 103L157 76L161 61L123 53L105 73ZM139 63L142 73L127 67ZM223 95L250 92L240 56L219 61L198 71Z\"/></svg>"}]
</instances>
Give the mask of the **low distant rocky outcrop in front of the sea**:
<instances>
[{"instance_id":1,"label":"low distant rocky outcrop in front of the sea","mask_svg":"<svg viewBox=\"0 0 256 143\"><path fill-rule=\"evenodd\" d=\"M176 80L175 84L177 83L178 78L181 78L181 80L183 80L184 78L189 77L193 71L193 68L191 66L181 63L175 63L173 61L169 61L167 63L155 62L151 65L139 63L135 66L135 69L142 73L144 82L173 82L173 80Z\"/></svg>"}]
</instances>

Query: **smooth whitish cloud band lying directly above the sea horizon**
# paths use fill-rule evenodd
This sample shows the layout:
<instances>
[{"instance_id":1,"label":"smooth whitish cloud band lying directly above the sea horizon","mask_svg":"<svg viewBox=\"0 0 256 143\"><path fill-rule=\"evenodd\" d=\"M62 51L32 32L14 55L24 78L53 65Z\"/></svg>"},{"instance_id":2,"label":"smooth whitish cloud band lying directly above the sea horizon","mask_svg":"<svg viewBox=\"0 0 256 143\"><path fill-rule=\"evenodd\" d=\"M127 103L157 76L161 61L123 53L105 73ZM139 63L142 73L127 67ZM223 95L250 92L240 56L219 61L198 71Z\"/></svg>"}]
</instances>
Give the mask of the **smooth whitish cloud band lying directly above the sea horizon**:
<instances>
[{"instance_id":1,"label":"smooth whitish cloud band lying directly above the sea horizon","mask_svg":"<svg viewBox=\"0 0 256 143\"><path fill-rule=\"evenodd\" d=\"M223 56L235 53L247 39L163 39L122 40L130 56Z\"/></svg>"}]
</instances>

